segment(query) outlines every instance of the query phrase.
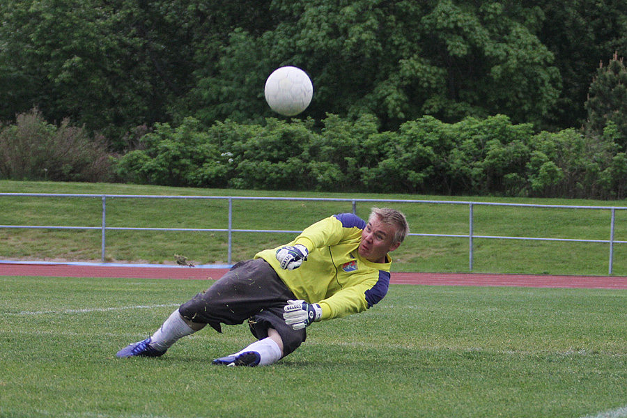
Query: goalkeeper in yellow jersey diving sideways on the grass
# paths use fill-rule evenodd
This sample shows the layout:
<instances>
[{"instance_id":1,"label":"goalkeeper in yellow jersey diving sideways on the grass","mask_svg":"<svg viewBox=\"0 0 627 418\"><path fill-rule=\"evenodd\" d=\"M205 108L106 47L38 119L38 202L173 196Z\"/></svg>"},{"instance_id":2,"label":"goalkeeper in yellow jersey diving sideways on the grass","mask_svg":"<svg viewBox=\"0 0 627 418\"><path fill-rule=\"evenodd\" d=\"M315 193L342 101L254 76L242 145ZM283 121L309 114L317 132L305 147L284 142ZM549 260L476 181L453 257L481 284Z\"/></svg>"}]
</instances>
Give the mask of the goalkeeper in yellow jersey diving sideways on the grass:
<instances>
[{"instance_id":1,"label":"goalkeeper in yellow jersey diving sideways on the grass","mask_svg":"<svg viewBox=\"0 0 627 418\"><path fill-rule=\"evenodd\" d=\"M248 320L257 341L213 364L265 366L293 353L316 321L369 309L387 293L392 258L409 232L398 210L373 208L368 222L343 213L302 231L293 242L240 261L207 291L174 311L144 341L117 357L157 357L183 336L209 324Z\"/></svg>"}]
</instances>

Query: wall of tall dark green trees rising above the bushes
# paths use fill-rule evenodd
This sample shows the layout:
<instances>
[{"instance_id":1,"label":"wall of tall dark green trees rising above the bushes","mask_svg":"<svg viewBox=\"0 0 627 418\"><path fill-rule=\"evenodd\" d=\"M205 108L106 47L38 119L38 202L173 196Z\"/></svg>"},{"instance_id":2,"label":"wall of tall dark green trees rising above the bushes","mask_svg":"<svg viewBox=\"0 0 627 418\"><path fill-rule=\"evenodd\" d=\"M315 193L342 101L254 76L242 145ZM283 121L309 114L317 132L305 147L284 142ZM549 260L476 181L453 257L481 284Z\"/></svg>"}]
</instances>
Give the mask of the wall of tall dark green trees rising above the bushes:
<instances>
[{"instance_id":1,"label":"wall of tall dark green trees rising above the bushes","mask_svg":"<svg viewBox=\"0 0 627 418\"><path fill-rule=\"evenodd\" d=\"M265 77L292 64L314 79L303 117L318 121L372 114L388 130L506 114L571 127L592 62L627 47L626 13L593 0L6 0L0 119L37 106L118 149L137 125L187 116L263 123L275 116Z\"/></svg>"}]
</instances>

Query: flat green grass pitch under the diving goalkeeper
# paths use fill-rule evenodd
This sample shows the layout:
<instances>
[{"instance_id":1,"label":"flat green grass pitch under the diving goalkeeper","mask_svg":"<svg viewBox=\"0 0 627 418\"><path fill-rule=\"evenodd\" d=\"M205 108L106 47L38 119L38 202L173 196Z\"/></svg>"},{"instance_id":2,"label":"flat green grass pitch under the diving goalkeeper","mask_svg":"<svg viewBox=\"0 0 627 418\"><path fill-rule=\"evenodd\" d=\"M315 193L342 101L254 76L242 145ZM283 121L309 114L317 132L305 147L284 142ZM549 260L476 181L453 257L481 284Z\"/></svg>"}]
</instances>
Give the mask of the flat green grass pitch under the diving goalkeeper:
<instances>
[{"instance_id":1,"label":"flat green grass pitch under the diving goalkeeper","mask_svg":"<svg viewBox=\"0 0 627 418\"><path fill-rule=\"evenodd\" d=\"M395 285L273 366L210 364L252 341L245 325L114 357L209 284L0 277L0 417L572 418L627 404L627 291Z\"/></svg>"}]
</instances>

